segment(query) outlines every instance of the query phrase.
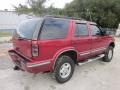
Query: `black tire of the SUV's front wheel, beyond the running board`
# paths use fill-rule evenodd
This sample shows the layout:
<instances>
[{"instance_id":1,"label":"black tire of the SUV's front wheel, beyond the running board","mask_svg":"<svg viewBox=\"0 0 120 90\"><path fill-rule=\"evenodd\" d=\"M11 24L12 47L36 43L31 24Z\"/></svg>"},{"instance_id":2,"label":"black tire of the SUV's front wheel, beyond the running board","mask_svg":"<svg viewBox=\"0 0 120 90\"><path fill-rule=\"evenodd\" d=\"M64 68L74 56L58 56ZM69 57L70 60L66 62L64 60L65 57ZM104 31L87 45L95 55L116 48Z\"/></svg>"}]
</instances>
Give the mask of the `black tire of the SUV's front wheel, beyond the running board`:
<instances>
[{"instance_id":1,"label":"black tire of the SUV's front wheel, beyond the running board","mask_svg":"<svg viewBox=\"0 0 120 90\"><path fill-rule=\"evenodd\" d=\"M110 62L113 58L113 47L112 46L109 46L108 49L106 50L105 52L105 56L103 57L103 61L104 62ZM109 53L112 53L111 57L109 57Z\"/></svg>"}]
</instances>

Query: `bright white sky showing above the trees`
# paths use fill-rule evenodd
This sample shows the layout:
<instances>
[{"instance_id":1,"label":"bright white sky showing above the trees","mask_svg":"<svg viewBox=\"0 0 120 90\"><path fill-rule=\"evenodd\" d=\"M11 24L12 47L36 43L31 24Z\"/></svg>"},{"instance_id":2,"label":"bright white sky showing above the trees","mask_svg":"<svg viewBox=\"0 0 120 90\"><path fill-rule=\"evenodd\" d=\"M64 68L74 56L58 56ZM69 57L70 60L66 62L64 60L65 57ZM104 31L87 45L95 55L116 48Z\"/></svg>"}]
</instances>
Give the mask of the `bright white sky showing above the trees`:
<instances>
[{"instance_id":1,"label":"bright white sky showing above the trees","mask_svg":"<svg viewBox=\"0 0 120 90\"><path fill-rule=\"evenodd\" d=\"M8 9L13 10L13 6L18 6L19 4L26 4L27 0L0 0L0 10ZM70 3L73 0L48 0L45 3L46 7L53 5L56 8L63 8L66 3Z\"/></svg>"}]
</instances>

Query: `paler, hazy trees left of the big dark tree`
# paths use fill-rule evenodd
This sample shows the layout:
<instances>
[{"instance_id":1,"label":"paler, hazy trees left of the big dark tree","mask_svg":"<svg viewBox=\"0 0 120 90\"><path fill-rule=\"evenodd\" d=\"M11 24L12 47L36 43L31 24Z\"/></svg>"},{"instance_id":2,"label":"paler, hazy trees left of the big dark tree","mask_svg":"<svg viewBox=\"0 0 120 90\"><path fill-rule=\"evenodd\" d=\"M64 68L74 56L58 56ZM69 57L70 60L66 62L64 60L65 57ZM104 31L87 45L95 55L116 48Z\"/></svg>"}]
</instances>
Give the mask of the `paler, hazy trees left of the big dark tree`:
<instances>
[{"instance_id":1,"label":"paler, hazy trees left of the big dark tree","mask_svg":"<svg viewBox=\"0 0 120 90\"><path fill-rule=\"evenodd\" d=\"M15 11L18 14L34 14L36 16L41 15L62 15L62 9L54 8L52 5L45 8L44 3L46 0L28 0L27 5L14 6Z\"/></svg>"}]
</instances>

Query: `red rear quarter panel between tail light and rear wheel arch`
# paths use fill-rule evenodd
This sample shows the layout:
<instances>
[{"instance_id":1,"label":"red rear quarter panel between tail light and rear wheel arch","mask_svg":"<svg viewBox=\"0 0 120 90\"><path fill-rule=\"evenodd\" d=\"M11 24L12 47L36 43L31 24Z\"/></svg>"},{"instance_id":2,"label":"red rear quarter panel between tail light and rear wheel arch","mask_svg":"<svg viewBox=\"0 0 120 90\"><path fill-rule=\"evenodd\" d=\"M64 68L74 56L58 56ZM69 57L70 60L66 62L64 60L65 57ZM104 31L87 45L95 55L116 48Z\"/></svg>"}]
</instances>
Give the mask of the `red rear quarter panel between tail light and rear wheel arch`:
<instances>
[{"instance_id":1,"label":"red rear quarter panel between tail light and rear wheel arch","mask_svg":"<svg viewBox=\"0 0 120 90\"><path fill-rule=\"evenodd\" d=\"M69 23L68 34L64 39L38 40L39 56L33 57L33 62L51 61L53 67L57 56L71 47L72 21Z\"/></svg>"}]
</instances>

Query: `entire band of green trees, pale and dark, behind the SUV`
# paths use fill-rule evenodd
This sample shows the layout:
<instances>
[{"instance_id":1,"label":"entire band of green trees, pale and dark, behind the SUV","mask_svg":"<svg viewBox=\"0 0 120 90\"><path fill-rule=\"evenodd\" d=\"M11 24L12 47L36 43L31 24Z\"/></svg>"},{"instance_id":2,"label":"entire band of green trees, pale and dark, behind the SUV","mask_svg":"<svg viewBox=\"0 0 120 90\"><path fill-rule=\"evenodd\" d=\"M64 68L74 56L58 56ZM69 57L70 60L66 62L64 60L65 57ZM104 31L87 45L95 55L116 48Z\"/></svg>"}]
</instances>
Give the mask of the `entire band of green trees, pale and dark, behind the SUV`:
<instances>
[{"instance_id":1,"label":"entire band of green trees, pale and dark, behind the SUV","mask_svg":"<svg viewBox=\"0 0 120 90\"><path fill-rule=\"evenodd\" d=\"M16 12L41 15L65 15L97 22L102 27L116 28L120 22L120 0L73 0L65 8L52 5L45 8L47 0L28 0L28 5L15 7Z\"/></svg>"}]
</instances>

